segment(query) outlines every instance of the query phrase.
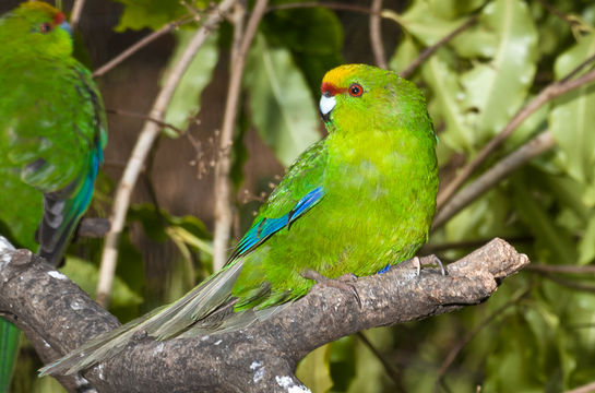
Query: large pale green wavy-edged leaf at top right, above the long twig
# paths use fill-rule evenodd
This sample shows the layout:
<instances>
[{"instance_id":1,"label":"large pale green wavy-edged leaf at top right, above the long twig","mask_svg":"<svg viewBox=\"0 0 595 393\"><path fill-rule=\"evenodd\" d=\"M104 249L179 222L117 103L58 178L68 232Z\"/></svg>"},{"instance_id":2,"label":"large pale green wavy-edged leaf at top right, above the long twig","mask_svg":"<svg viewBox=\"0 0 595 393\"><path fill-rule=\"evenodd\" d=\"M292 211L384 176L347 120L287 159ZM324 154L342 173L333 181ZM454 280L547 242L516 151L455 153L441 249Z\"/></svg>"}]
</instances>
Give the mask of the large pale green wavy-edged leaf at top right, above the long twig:
<instances>
[{"instance_id":1,"label":"large pale green wavy-edged leaf at top right, above the long twig","mask_svg":"<svg viewBox=\"0 0 595 393\"><path fill-rule=\"evenodd\" d=\"M535 74L537 33L527 5L521 0L496 0L479 17L481 29L497 40L487 63L476 63L461 76L463 108L476 112L475 143L484 143L509 122L523 105ZM484 43L487 45L487 43Z\"/></svg>"}]
</instances>

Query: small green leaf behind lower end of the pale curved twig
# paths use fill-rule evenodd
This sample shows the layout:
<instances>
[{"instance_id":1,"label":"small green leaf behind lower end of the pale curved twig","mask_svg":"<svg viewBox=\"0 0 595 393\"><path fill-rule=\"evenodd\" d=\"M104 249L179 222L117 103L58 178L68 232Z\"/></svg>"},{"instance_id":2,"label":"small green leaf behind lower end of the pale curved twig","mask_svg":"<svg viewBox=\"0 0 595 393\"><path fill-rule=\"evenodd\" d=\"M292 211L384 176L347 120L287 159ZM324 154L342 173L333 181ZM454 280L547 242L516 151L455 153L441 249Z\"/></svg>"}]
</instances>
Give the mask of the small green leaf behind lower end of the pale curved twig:
<instances>
[{"instance_id":1,"label":"small green leaf behind lower end of the pale curved twig","mask_svg":"<svg viewBox=\"0 0 595 393\"><path fill-rule=\"evenodd\" d=\"M76 257L67 257L64 265L60 269L62 273L69 276L91 297L95 297L97 289L97 279L99 271L96 265ZM114 278L111 290L111 306L126 307L140 305L142 297L130 289L128 285L118 276Z\"/></svg>"}]
</instances>

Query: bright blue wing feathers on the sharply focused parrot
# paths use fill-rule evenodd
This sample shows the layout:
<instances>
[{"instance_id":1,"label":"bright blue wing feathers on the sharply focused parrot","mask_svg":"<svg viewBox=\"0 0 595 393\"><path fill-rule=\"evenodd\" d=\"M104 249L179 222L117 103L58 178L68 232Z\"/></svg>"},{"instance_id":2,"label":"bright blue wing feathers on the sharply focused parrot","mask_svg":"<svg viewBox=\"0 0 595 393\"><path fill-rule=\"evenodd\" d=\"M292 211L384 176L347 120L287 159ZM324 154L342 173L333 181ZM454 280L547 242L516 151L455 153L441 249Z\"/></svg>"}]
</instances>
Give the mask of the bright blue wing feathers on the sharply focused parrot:
<instances>
[{"instance_id":1,"label":"bright blue wing feathers on the sharply focused parrot","mask_svg":"<svg viewBox=\"0 0 595 393\"><path fill-rule=\"evenodd\" d=\"M242 254L249 252L274 233L287 227L291 227L291 224L298 219L304 213L309 211L313 205L316 205L324 196L324 190L321 187L317 187L312 191L308 192L304 198L301 198L291 211L278 218L262 218L255 223L247 233L243 235L239 243L236 246L234 253L229 258L229 261L241 257Z\"/></svg>"}]
</instances>

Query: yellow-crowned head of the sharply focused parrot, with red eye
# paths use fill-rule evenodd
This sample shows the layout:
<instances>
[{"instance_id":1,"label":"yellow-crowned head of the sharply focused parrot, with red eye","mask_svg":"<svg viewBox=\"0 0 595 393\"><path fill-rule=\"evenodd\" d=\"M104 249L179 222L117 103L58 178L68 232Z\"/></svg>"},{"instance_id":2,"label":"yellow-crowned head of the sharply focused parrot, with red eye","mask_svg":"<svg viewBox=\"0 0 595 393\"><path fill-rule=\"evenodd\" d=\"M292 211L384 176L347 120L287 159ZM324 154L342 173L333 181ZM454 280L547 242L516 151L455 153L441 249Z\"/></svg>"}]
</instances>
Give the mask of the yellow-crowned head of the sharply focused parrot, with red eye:
<instances>
[{"instance_id":1,"label":"yellow-crowned head of the sharply focused parrot, with red eye","mask_svg":"<svg viewBox=\"0 0 595 393\"><path fill-rule=\"evenodd\" d=\"M377 67L332 69L322 79L321 94L320 112L330 132L407 128L415 121L429 121L426 100L415 84Z\"/></svg>"}]
</instances>

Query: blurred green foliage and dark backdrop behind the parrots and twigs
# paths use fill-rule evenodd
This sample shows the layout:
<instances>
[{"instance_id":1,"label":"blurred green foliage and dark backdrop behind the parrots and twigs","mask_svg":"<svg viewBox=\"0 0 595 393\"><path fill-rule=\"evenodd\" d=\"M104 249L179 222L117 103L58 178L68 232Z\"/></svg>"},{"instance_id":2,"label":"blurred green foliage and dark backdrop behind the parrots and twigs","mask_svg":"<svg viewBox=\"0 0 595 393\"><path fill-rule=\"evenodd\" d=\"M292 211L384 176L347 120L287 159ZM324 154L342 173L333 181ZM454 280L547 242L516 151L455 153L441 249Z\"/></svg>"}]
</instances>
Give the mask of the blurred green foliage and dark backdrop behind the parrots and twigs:
<instances>
[{"instance_id":1,"label":"blurred green foliage and dark backdrop behind the parrots and twigs","mask_svg":"<svg viewBox=\"0 0 595 393\"><path fill-rule=\"evenodd\" d=\"M0 11L16 3L4 0ZM72 1L61 5L70 10ZM95 69L164 24L210 7L87 0L79 58ZM465 25L408 75L426 92L439 133L441 187L540 91L595 55L592 0L386 0L382 9L383 50L397 72ZM283 168L323 135L317 109L323 73L343 62L376 62L369 10L368 1L355 0L270 2L247 56L233 145L236 239ZM181 25L97 79L109 144L87 216L109 215L142 117L197 25ZM169 105L172 127L164 128L136 184L110 307L122 322L178 298L213 270L213 166L231 39L225 22L197 55ZM555 146L438 226L423 249L448 262L501 237L527 253L532 267L484 305L325 345L300 362L302 381L313 392L370 393L562 392L595 381L594 127L593 84L545 103L467 184L537 134L551 134ZM79 240L63 266L92 295L100 246ZM34 378L39 366L23 345L13 391L59 392L51 379Z\"/></svg>"}]
</instances>

